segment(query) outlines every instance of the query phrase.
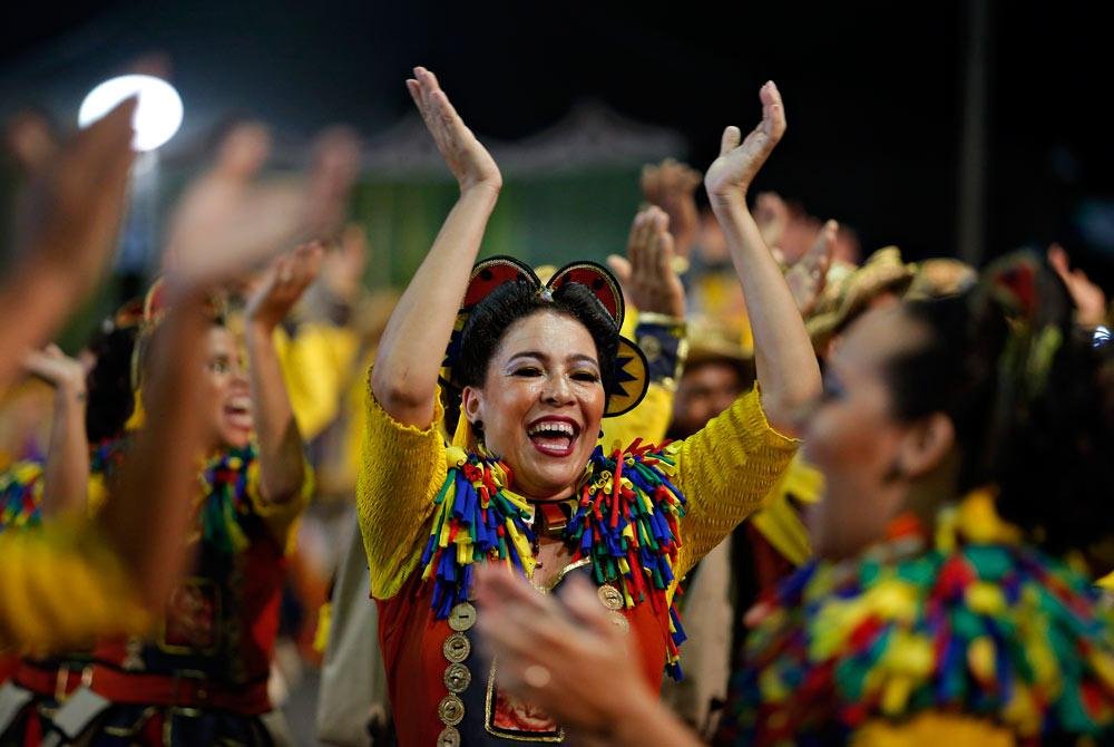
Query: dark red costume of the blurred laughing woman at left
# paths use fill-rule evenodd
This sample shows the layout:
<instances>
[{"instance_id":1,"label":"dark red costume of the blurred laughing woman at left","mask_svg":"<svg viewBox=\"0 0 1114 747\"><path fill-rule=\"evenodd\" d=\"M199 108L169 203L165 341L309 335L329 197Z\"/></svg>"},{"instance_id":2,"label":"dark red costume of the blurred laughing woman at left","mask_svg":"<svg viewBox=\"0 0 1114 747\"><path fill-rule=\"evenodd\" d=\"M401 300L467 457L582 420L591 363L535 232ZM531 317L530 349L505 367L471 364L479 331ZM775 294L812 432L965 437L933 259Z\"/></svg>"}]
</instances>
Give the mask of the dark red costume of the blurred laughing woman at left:
<instances>
[{"instance_id":1,"label":"dark red costume of the blurred laughing woman at left","mask_svg":"<svg viewBox=\"0 0 1114 747\"><path fill-rule=\"evenodd\" d=\"M123 443L120 444L123 448ZM254 446L211 458L201 473L193 572L147 637L102 639L85 683L109 701L96 716L106 744L266 741L270 662L292 527L312 493L268 504Z\"/></svg>"}]
</instances>

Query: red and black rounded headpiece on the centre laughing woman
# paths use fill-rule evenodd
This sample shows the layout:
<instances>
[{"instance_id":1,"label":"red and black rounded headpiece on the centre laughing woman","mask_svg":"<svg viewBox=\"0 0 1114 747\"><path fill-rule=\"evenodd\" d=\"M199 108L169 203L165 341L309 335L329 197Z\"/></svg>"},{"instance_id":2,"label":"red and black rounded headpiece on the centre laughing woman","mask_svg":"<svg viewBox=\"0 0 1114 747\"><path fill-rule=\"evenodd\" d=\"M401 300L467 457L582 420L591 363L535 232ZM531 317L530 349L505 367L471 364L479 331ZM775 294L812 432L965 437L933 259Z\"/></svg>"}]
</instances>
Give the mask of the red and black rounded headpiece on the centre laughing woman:
<instances>
[{"instance_id":1,"label":"red and black rounded headpiece on the centre laughing woman","mask_svg":"<svg viewBox=\"0 0 1114 747\"><path fill-rule=\"evenodd\" d=\"M441 365L442 384L456 389L461 387L453 376L453 367L460 361L465 324L477 305L497 288L507 283L525 283L539 298L549 302L554 301L554 294L566 284L576 283L587 289L614 323L615 337L618 340L614 372L609 381L604 381L604 390L607 392L604 417L628 413L642 401L649 386L646 357L637 345L618 333L623 327L623 291L607 269L587 261L566 264L556 270L545 283L538 280L538 275L528 265L510 256L492 256L477 263L472 268L468 289L465 291L465 299L457 313L449 347L444 353L444 362Z\"/></svg>"}]
</instances>

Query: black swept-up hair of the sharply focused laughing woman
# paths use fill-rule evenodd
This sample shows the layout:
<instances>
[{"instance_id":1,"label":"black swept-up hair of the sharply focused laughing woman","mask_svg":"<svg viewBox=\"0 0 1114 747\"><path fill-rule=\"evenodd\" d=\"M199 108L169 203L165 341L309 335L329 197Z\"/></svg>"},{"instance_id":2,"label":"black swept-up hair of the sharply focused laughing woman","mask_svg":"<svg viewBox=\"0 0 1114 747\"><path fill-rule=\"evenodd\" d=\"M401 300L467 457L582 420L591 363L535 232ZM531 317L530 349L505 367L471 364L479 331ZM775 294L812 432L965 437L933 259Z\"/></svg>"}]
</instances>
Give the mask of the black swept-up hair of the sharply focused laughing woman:
<instances>
[{"instance_id":1,"label":"black swept-up hair of the sharply focused laughing woman","mask_svg":"<svg viewBox=\"0 0 1114 747\"><path fill-rule=\"evenodd\" d=\"M599 299L580 283L565 283L553 291L553 300L546 300L532 283L508 282L476 304L460 331L460 352L452 367L452 381L442 390L446 425L450 433L456 429L460 415L463 387L483 386L488 365L510 326L541 311L564 314L584 324L596 343L604 390L610 394L615 381L618 329Z\"/></svg>"}]
</instances>

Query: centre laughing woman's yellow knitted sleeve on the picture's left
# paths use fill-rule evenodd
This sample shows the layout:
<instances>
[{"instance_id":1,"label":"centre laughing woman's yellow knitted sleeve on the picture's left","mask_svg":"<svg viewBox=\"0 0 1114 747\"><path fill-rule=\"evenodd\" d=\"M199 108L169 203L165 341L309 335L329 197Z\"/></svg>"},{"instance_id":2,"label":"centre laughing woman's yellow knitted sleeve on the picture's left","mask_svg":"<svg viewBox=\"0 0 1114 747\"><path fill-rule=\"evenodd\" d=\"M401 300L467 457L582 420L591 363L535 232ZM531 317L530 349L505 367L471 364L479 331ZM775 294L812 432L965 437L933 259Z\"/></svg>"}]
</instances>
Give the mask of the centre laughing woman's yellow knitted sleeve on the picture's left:
<instances>
[{"instance_id":1,"label":"centre laughing woman's yellow knitted sleeve on the picture's left","mask_svg":"<svg viewBox=\"0 0 1114 747\"><path fill-rule=\"evenodd\" d=\"M405 426L379 405L370 385L367 391L356 513L371 571L371 594L389 599L418 565L433 499L448 474L444 439L437 425L444 414L436 397L428 428Z\"/></svg>"}]
</instances>

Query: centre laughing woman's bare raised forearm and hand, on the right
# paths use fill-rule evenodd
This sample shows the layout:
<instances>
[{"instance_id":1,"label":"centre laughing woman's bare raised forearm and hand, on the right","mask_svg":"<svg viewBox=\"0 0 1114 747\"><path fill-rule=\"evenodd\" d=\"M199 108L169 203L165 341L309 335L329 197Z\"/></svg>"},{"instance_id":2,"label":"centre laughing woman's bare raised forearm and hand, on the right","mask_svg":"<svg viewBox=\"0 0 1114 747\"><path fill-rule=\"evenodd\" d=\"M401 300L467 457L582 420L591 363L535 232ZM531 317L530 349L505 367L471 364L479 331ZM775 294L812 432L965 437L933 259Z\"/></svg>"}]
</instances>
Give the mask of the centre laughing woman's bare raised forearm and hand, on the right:
<instances>
[{"instance_id":1,"label":"centre laughing woman's bare raised forearm and hand, on the right","mask_svg":"<svg viewBox=\"0 0 1114 747\"><path fill-rule=\"evenodd\" d=\"M762 86L760 97L762 122L742 144L737 127L723 132L704 186L743 283L762 408L775 428L792 433L798 410L820 392L820 368L789 287L746 207L751 182L785 133L785 108L773 81Z\"/></svg>"}]
</instances>

